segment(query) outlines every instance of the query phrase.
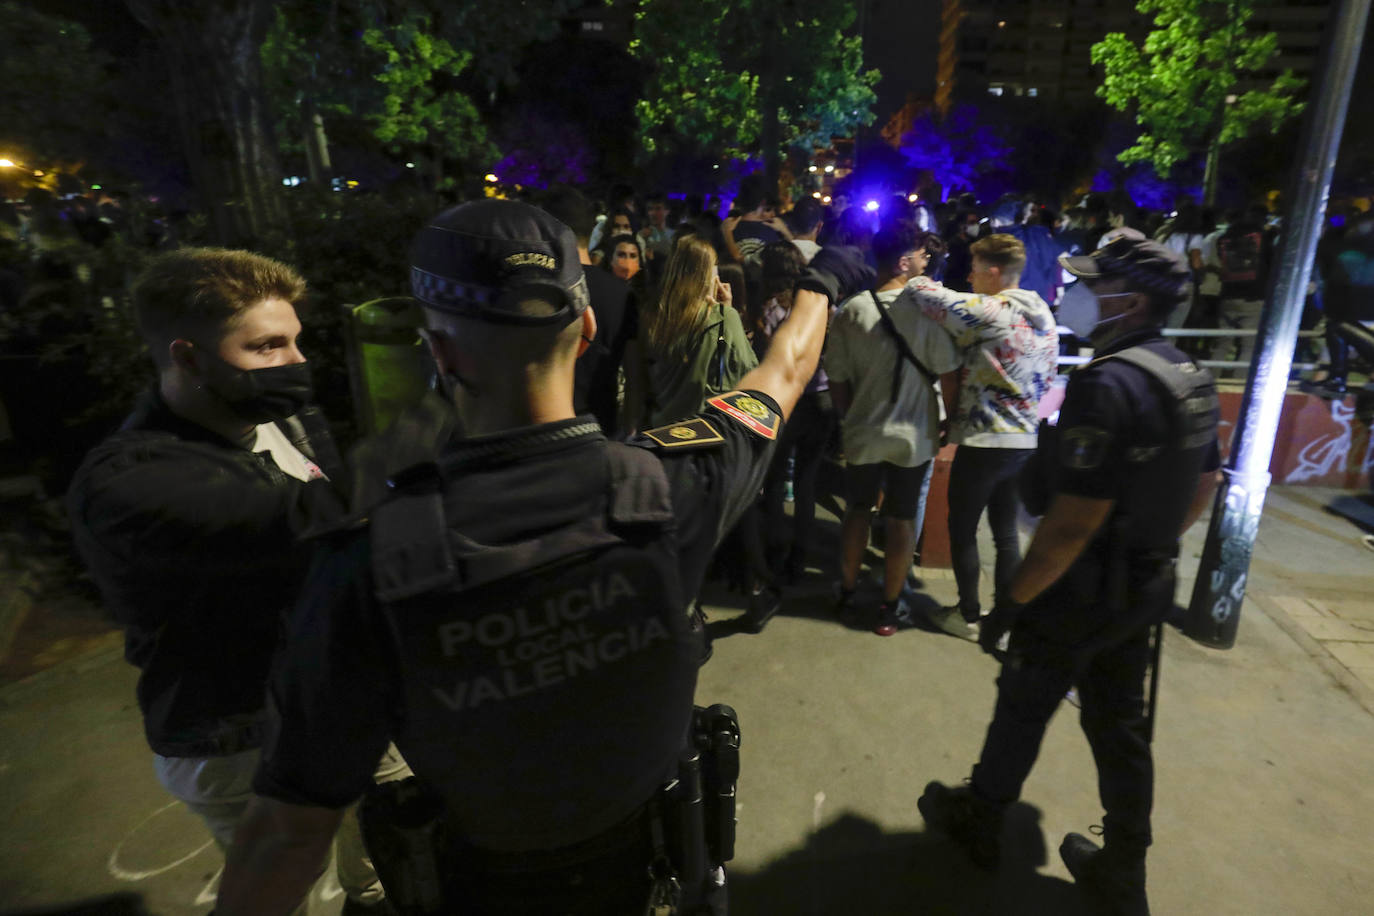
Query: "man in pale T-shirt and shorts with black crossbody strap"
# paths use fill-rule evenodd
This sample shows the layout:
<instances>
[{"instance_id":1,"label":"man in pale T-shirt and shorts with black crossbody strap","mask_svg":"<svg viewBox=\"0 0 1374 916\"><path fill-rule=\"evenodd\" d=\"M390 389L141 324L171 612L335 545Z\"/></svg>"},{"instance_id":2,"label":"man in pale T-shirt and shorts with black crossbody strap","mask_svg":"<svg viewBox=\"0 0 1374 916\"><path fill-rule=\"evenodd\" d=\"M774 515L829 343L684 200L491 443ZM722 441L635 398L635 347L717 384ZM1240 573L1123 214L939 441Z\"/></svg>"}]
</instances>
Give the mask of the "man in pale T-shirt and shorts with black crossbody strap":
<instances>
[{"instance_id":1,"label":"man in pale T-shirt and shorts with black crossbody strap","mask_svg":"<svg viewBox=\"0 0 1374 916\"><path fill-rule=\"evenodd\" d=\"M846 299L830 331L826 372L841 413L845 445L845 515L840 529L840 604L853 612L853 589L868 547L870 519L883 493L886 534L883 602L875 632L890 636L911 614L901 588L919 531L916 518L940 449L934 380L959 367L959 352L938 324L910 299L907 282L926 269L925 232L914 224L874 236L878 287ZM919 367L914 361L919 361Z\"/></svg>"}]
</instances>

